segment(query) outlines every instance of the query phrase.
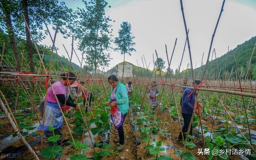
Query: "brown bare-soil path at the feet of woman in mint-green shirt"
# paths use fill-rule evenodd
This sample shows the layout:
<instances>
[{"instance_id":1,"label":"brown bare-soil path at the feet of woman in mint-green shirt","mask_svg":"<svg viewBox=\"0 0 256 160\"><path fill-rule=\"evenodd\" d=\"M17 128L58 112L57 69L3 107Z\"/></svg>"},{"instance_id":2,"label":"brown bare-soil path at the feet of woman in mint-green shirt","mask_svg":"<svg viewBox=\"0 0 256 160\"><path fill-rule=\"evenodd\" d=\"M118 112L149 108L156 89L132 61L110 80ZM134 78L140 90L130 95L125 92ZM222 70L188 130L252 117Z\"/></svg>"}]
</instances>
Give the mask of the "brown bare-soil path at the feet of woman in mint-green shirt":
<instances>
[{"instance_id":1,"label":"brown bare-soil path at the feet of woman in mint-green shirt","mask_svg":"<svg viewBox=\"0 0 256 160\"><path fill-rule=\"evenodd\" d=\"M132 132L132 125L130 123L130 115L131 113L128 112L125 120L124 120L124 149L122 151L119 151L119 154L112 155L106 158L102 158L102 160L137 160L137 148L136 148L136 142L135 142L135 136ZM112 129L110 132L110 143L112 146L114 146L113 151L115 148L119 145L119 143L114 143L114 139L119 140L118 132L112 125Z\"/></svg>"}]
</instances>

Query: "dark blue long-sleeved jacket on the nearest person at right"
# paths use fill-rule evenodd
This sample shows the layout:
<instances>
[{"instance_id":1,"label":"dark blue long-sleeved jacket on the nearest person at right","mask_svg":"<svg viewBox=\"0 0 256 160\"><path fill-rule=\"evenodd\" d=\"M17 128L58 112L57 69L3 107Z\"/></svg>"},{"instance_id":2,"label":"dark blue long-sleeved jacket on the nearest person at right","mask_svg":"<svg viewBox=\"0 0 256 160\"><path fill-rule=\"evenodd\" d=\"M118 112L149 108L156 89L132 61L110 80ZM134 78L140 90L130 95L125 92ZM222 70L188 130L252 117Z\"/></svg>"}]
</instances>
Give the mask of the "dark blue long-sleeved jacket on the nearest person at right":
<instances>
[{"instance_id":1,"label":"dark blue long-sleeved jacket on the nearest person at right","mask_svg":"<svg viewBox=\"0 0 256 160\"><path fill-rule=\"evenodd\" d=\"M184 114L193 114L194 104L196 101L196 92L193 92L190 97L188 95L193 90L190 88L186 88L182 95L182 113Z\"/></svg>"}]
</instances>

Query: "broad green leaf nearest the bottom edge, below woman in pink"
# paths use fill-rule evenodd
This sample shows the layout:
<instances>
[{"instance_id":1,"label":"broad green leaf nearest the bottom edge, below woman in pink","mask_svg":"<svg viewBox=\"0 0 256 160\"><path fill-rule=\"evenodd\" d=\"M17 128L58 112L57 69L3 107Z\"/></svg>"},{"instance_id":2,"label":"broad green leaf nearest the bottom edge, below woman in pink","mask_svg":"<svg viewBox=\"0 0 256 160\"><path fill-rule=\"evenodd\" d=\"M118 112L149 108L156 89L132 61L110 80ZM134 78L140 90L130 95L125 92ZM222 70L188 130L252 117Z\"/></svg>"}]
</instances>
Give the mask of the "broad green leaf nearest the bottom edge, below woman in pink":
<instances>
[{"instance_id":1,"label":"broad green leaf nearest the bottom edge, below woman in pink","mask_svg":"<svg viewBox=\"0 0 256 160\"><path fill-rule=\"evenodd\" d=\"M58 154L62 154L60 146L46 147L42 149L41 156L44 158L55 158Z\"/></svg>"}]
</instances>

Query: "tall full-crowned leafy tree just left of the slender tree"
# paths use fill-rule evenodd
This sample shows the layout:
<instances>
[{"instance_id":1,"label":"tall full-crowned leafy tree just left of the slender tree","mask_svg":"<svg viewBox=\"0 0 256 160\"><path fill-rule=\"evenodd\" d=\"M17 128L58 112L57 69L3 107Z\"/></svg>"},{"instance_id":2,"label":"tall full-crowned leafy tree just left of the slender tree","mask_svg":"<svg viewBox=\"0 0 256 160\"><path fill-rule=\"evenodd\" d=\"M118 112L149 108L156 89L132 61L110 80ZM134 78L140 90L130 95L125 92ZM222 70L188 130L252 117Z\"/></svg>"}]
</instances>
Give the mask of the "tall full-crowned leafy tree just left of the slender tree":
<instances>
[{"instance_id":1,"label":"tall full-crowned leafy tree just left of the slender tree","mask_svg":"<svg viewBox=\"0 0 256 160\"><path fill-rule=\"evenodd\" d=\"M87 65L94 66L96 73L99 66L108 66L111 59L108 53L112 49L111 19L105 16L108 4L105 0L83 2L86 9L78 8L77 19L70 25L70 30L74 33L74 38L79 40L78 49L86 50Z\"/></svg>"}]
</instances>

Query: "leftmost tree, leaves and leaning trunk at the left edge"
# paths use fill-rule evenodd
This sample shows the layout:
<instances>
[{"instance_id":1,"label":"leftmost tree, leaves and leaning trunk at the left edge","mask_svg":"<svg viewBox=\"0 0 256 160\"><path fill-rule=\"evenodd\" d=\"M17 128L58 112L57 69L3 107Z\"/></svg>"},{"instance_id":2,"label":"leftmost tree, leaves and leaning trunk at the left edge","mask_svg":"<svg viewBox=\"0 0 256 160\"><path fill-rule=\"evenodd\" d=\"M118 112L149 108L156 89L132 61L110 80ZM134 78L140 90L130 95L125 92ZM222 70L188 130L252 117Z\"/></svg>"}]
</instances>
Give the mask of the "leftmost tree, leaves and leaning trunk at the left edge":
<instances>
[{"instance_id":1,"label":"leftmost tree, leaves and leaning trunk at the left edge","mask_svg":"<svg viewBox=\"0 0 256 160\"><path fill-rule=\"evenodd\" d=\"M10 0L3 0L0 2L0 22L1 24L4 24L5 22L5 26L6 26L6 31L8 33L9 36L9 40L10 40L10 46L12 48L12 53L14 56L14 61L15 61L15 68L16 70L21 70L21 66L20 66L20 57L18 55L18 50L17 50L17 44L16 44L16 40L15 40L15 33L13 30L13 26L12 26L12 16L14 14L17 15L17 13L15 12L15 8L17 8L18 3L16 1L10 1ZM13 14L13 15L12 15Z\"/></svg>"}]
</instances>

